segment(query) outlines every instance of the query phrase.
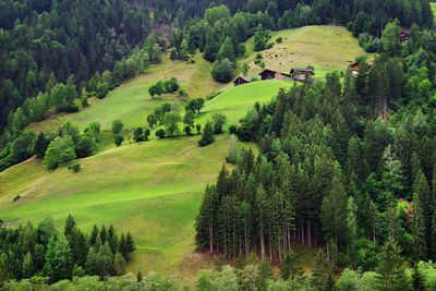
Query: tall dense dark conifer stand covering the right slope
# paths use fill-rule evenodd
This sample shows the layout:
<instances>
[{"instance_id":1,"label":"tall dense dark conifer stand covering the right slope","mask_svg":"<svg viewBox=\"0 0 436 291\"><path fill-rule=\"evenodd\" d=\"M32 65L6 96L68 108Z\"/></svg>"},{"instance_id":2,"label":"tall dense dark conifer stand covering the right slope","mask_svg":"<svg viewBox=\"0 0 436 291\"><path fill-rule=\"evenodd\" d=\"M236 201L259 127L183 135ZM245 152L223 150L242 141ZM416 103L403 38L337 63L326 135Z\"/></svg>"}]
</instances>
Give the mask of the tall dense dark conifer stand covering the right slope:
<instances>
[{"instance_id":1,"label":"tall dense dark conifer stand covering the right slope","mask_svg":"<svg viewBox=\"0 0 436 291\"><path fill-rule=\"evenodd\" d=\"M261 153L232 154L238 167L223 167L207 186L196 219L199 248L283 263L299 241L325 245L334 266L365 271L377 268L384 244L411 263L436 258L436 118L427 69L434 40L424 45L433 32L414 26L401 47L398 28L387 25L382 56L372 66L362 61L358 76L348 71L341 83L334 72L325 82L280 90L231 129Z\"/></svg>"}]
</instances>

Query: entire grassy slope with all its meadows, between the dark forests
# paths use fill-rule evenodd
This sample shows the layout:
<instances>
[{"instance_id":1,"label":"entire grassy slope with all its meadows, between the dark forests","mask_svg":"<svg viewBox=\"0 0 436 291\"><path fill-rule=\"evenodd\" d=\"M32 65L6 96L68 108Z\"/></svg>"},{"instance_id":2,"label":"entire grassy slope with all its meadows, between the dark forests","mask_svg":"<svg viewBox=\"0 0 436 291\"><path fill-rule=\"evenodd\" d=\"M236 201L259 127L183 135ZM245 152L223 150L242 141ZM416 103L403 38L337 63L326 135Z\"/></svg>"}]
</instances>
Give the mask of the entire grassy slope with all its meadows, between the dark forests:
<instances>
[{"instance_id":1,"label":"entire grassy slope with all its meadows, between the dark forests","mask_svg":"<svg viewBox=\"0 0 436 291\"><path fill-rule=\"evenodd\" d=\"M344 28L303 27L274 33L274 39L278 36L286 38L283 44L263 53L267 68L283 72L290 66L311 63L320 75L328 70L346 68L348 61L363 53ZM247 41L247 49L249 57L240 63L254 59L253 40ZM275 51L281 53L281 64L275 60ZM173 272L179 269L193 275L194 271L183 270L179 265L183 260L183 266L189 265L194 270L204 264L192 252L193 221L205 185L215 180L223 162L227 137L220 136L216 144L206 148L196 146L197 136L153 140L142 145L125 142L116 148L107 131L117 118L126 128L145 125L146 114L156 106L175 100L174 96L149 100L147 88L158 80L175 76L191 97L228 89L206 102L197 122L204 123L214 112L223 112L229 124L237 123L255 101L268 101L280 87L293 84L267 81L239 87L232 87L231 83L222 85L211 80L210 63L199 54L195 60L194 64L175 62L173 68L167 57L147 74L124 83L86 110L31 124L34 130L53 131L65 120L77 123L81 129L99 121L106 131L99 148L101 153L81 160L83 171L78 174L65 167L47 173L34 159L0 173L0 218L16 223L27 219L37 222L44 215L52 214L61 226L68 214L72 214L84 229L94 223L113 223L120 230L132 231L136 238L138 250L130 270ZM261 71L253 63L251 66L250 75ZM17 194L23 198L11 203Z\"/></svg>"}]
</instances>

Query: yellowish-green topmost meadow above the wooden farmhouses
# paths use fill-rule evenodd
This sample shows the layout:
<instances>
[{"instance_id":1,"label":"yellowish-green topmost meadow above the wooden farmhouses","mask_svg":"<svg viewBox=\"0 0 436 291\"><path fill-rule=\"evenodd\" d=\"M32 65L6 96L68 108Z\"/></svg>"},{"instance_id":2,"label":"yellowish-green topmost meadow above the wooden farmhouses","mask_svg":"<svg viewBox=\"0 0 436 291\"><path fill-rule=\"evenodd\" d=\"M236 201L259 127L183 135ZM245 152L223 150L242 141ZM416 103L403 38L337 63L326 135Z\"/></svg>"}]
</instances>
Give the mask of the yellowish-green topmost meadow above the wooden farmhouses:
<instances>
[{"instance_id":1,"label":"yellowish-green topmost meadow above the wooden farmhouses","mask_svg":"<svg viewBox=\"0 0 436 291\"><path fill-rule=\"evenodd\" d=\"M291 68L315 66L315 77L319 78L331 71L344 71L359 56L366 52L359 46L356 38L344 27L305 26L295 29L272 32L270 41L282 37L281 44L262 51L266 69L289 73ZM262 69L253 62L257 52L253 51L253 38L249 39L249 75L258 74ZM371 59L372 57L370 57Z\"/></svg>"}]
</instances>

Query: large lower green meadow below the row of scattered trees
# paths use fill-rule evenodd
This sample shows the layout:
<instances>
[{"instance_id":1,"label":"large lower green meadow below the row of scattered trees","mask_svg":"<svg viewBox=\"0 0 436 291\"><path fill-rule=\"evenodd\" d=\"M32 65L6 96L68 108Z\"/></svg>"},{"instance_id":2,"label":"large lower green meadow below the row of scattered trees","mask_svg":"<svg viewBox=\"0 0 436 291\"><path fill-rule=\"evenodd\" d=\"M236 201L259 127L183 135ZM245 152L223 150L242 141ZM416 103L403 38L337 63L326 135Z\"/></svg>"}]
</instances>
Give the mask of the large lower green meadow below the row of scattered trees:
<instances>
[{"instance_id":1,"label":"large lower green meadow below the row of scattered trees","mask_svg":"<svg viewBox=\"0 0 436 291\"><path fill-rule=\"evenodd\" d=\"M52 173L31 159L0 173L0 217L10 223L46 215L62 226L72 214L81 228L94 223L131 231L138 251L129 268L171 272L194 250L193 222L207 183L225 162L228 136L199 148L199 136L155 140L110 148ZM13 203L20 194L22 198Z\"/></svg>"}]
</instances>

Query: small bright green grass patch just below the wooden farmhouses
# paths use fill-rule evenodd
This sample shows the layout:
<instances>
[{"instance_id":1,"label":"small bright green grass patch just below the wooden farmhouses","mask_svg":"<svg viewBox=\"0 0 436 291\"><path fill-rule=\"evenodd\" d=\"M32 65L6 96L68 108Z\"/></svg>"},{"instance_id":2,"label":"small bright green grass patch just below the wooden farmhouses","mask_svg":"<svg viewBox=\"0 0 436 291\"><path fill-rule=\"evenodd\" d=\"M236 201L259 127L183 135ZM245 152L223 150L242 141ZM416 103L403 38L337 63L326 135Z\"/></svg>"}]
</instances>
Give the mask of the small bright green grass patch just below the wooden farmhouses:
<instances>
[{"instance_id":1,"label":"small bright green grass patch just below the wooden farmhouses","mask_svg":"<svg viewBox=\"0 0 436 291\"><path fill-rule=\"evenodd\" d=\"M293 81L270 80L232 87L207 101L197 121L205 123L214 113L221 112L227 117L227 128L237 124L255 102L268 102L277 96L280 88L289 89L293 84Z\"/></svg>"}]
</instances>

